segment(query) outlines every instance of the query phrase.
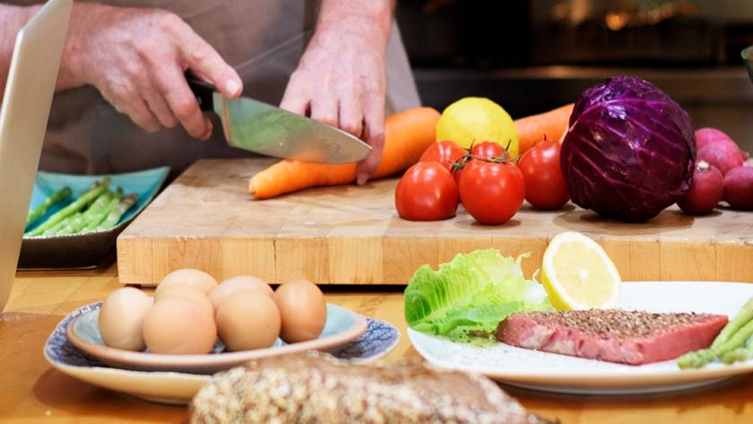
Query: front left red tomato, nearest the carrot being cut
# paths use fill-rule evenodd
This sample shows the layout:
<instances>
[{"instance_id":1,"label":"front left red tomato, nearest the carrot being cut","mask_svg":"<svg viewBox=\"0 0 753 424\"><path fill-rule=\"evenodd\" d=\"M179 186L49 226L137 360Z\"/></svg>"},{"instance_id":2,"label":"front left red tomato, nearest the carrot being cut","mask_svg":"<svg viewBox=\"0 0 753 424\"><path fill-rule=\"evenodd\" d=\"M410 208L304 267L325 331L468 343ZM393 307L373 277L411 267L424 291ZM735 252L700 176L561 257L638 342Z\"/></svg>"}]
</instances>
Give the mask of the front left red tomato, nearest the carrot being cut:
<instances>
[{"instance_id":1,"label":"front left red tomato, nearest the carrot being cut","mask_svg":"<svg viewBox=\"0 0 753 424\"><path fill-rule=\"evenodd\" d=\"M454 217L459 202L450 171L437 162L419 162L405 171L394 191L394 205L402 218L439 221Z\"/></svg>"}]
</instances>

